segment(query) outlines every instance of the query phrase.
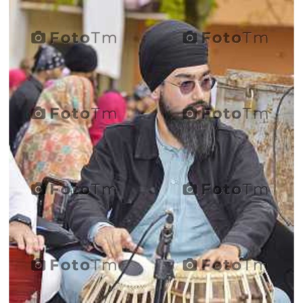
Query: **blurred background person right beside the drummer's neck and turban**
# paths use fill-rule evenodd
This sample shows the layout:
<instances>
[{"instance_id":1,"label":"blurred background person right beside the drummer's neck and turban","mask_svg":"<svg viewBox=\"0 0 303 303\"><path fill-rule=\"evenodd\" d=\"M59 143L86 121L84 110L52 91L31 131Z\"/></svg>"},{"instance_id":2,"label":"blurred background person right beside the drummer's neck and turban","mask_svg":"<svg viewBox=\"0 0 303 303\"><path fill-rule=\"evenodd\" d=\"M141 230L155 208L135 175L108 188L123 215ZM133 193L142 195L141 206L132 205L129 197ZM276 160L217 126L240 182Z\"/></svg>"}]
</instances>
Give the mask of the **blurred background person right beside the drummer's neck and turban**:
<instances>
[{"instance_id":1,"label":"blurred background person right beside the drummer's neck and turban","mask_svg":"<svg viewBox=\"0 0 303 303\"><path fill-rule=\"evenodd\" d=\"M137 101L137 110L139 113L146 114L156 109L155 100L151 97L150 89L144 82L135 87L134 98Z\"/></svg>"}]
</instances>

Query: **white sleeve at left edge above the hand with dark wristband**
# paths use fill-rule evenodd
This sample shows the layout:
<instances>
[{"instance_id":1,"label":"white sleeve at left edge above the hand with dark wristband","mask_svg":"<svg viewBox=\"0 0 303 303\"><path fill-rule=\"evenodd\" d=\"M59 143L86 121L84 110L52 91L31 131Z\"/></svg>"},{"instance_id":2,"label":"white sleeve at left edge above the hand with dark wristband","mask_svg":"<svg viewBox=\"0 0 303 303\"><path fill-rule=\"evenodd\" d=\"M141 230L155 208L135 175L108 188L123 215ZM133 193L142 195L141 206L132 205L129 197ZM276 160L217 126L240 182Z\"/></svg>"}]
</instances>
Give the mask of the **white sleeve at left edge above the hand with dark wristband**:
<instances>
[{"instance_id":1,"label":"white sleeve at left edge above the hand with dark wristband","mask_svg":"<svg viewBox=\"0 0 303 303\"><path fill-rule=\"evenodd\" d=\"M10 218L17 214L30 218L36 232L37 196L31 194L10 151Z\"/></svg>"}]
</instances>

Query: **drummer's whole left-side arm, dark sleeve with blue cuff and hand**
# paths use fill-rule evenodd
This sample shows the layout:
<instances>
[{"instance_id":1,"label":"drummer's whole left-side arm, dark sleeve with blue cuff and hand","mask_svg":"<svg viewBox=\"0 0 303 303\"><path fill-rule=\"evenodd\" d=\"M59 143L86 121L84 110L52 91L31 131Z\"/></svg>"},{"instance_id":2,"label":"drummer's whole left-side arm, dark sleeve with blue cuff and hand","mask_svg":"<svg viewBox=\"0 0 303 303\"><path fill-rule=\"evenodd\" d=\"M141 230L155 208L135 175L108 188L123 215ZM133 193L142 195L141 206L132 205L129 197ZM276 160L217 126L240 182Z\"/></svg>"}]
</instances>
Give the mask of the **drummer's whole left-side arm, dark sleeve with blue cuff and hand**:
<instances>
[{"instance_id":1,"label":"drummer's whole left-side arm, dark sleeve with blue cuff and hand","mask_svg":"<svg viewBox=\"0 0 303 303\"><path fill-rule=\"evenodd\" d=\"M93 243L93 246L101 247L109 258L119 260L123 248L133 251L136 244L126 229L114 227L107 219L114 193L104 191L103 188L115 185L114 171L106 130L104 137L94 148L88 165L82 169L81 181L66 214L69 226L84 246L89 247ZM89 188L89 194L80 193L81 190L84 191L83 186ZM119 194L116 191L115 188L115 193ZM139 254L142 251L142 247L137 250Z\"/></svg>"}]
</instances>

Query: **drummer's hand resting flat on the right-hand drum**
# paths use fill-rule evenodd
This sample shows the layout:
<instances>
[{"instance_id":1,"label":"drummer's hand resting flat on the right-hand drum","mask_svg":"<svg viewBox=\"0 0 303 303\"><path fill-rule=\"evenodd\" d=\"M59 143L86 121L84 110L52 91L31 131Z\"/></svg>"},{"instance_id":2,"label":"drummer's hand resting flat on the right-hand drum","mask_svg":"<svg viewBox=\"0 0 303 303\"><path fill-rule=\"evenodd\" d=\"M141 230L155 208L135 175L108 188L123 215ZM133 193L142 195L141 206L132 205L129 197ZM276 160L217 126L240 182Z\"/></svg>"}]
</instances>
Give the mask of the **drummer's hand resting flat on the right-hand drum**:
<instances>
[{"instance_id":1,"label":"drummer's hand resting flat on the right-hand drum","mask_svg":"<svg viewBox=\"0 0 303 303\"><path fill-rule=\"evenodd\" d=\"M202 269L203 266L207 265L205 266L205 270L211 270L215 262L220 262L222 269L225 267L230 268L234 262L240 261L239 248L235 245L221 244L218 248L209 250L196 260L197 269ZM203 264L203 260L205 264ZM206 260L210 260L210 262L206 262Z\"/></svg>"}]
</instances>

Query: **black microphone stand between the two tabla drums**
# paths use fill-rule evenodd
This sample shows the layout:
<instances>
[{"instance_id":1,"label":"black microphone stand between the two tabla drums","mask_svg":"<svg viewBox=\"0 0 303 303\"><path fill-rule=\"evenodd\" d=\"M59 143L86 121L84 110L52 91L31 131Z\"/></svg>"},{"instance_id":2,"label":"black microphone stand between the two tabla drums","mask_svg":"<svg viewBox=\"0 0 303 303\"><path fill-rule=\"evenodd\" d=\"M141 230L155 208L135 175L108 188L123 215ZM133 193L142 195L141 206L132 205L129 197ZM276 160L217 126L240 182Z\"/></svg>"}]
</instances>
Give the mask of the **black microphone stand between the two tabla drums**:
<instances>
[{"instance_id":1,"label":"black microphone stand between the two tabla drums","mask_svg":"<svg viewBox=\"0 0 303 303\"><path fill-rule=\"evenodd\" d=\"M172 216L171 214L168 214ZM173 220L173 217L170 217ZM165 225L160 234L160 245L157 255L160 259L156 260L154 278L157 279L154 303L163 303L165 296L166 283L174 278L174 261L168 260L170 244L173 239L173 230Z\"/></svg>"}]
</instances>

